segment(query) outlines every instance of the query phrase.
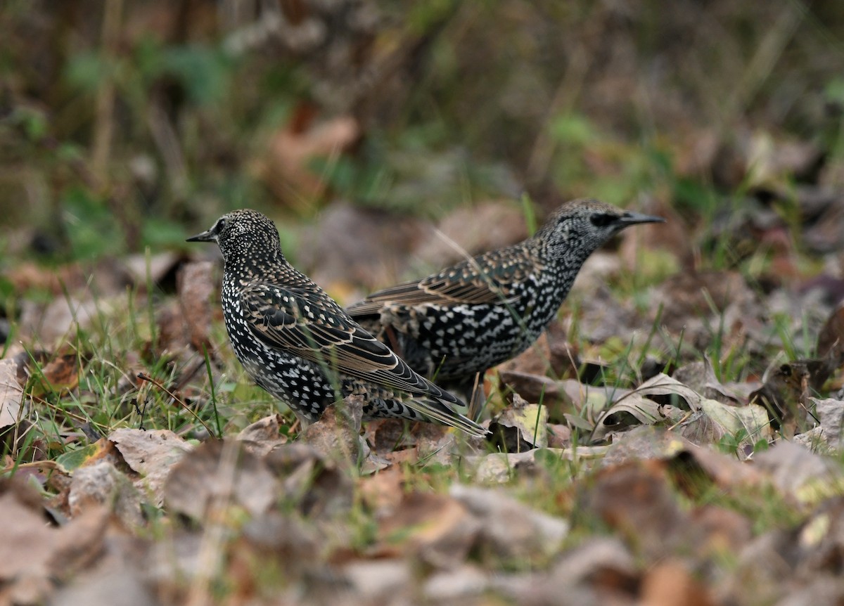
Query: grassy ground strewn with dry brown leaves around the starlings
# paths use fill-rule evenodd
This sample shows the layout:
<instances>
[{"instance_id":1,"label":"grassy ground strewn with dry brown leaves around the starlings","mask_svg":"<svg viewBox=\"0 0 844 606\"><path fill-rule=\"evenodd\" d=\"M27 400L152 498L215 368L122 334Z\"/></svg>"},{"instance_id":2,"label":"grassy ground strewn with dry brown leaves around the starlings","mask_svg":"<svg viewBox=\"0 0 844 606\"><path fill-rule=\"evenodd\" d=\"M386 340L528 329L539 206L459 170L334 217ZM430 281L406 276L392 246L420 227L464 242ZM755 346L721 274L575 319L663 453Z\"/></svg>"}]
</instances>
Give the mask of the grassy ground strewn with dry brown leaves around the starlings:
<instances>
[{"instance_id":1,"label":"grassy ground strewn with dry brown leaves around the starlings","mask_svg":"<svg viewBox=\"0 0 844 606\"><path fill-rule=\"evenodd\" d=\"M560 322L488 373L487 441L387 421L361 434L352 399L299 431L233 360L214 262L150 257L143 279L109 262L24 300L0 360L3 597L841 598L841 309L823 286L763 294L728 271L612 293L653 229L599 252ZM173 295L144 292L171 273ZM46 338L58 349L32 347Z\"/></svg>"}]
</instances>

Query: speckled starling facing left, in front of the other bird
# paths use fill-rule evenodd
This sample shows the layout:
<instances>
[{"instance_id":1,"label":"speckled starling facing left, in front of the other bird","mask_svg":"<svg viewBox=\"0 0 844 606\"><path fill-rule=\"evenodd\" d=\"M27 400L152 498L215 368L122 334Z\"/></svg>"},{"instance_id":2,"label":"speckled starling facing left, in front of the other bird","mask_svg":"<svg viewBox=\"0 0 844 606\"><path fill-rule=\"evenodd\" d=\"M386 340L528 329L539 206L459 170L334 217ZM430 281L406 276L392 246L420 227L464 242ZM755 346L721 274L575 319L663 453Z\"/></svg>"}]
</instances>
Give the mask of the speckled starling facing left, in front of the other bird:
<instances>
[{"instance_id":1,"label":"speckled starling facing left, in front of the other bird","mask_svg":"<svg viewBox=\"0 0 844 606\"><path fill-rule=\"evenodd\" d=\"M463 404L416 374L284 258L279 231L254 210L223 215L189 242L217 242L223 252L221 299L232 349L252 379L304 423L349 395L364 399L364 418L398 417L487 431L457 414Z\"/></svg>"}]
</instances>

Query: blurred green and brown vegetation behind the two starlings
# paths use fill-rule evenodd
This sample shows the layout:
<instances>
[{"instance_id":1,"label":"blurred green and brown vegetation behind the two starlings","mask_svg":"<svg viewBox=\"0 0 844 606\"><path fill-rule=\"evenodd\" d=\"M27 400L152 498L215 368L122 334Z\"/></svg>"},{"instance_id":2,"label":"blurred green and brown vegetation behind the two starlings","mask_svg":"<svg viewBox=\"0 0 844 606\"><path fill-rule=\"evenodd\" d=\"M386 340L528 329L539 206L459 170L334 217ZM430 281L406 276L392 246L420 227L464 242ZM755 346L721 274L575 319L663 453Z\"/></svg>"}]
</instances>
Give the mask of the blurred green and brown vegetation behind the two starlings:
<instances>
[{"instance_id":1,"label":"blurred green and brown vegetation behind the two starlings","mask_svg":"<svg viewBox=\"0 0 844 606\"><path fill-rule=\"evenodd\" d=\"M5 0L3 263L184 246L244 206L295 241L339 200L800 221L844 191L842 25L831 1Z\"/></svg>"}]
</instances>

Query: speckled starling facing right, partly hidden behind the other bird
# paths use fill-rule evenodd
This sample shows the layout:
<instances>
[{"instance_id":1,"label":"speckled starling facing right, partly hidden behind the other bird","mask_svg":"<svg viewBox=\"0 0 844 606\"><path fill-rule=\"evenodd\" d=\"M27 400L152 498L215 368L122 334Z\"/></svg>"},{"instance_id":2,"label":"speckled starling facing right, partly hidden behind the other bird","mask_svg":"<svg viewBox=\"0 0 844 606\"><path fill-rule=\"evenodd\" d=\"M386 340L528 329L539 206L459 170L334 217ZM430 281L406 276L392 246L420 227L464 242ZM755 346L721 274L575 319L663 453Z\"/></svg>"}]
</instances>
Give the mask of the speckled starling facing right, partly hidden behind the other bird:
<instances>
[{"instance_id":1,"label":"speckled starling facing right, partly hidden behind the other bird","mask_svg":"<svg viewBox=\"0 0 844 606\"><path fill-rule=\"evenodd\" d=\"M533 237L376 292L349 315L415 371L468 395L477 373L538 338L598 246L630 225L664 220L574 200Z\"/></svg>"}]
</instances>

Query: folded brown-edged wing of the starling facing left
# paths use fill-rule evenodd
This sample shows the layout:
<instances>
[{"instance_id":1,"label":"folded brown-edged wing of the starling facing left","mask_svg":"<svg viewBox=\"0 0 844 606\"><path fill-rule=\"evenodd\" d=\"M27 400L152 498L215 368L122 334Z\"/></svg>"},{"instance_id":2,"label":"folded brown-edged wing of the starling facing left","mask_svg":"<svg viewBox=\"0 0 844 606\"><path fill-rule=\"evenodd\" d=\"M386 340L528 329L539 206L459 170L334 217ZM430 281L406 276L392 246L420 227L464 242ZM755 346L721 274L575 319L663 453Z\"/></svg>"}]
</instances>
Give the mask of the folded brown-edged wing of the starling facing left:
<instances>
[{"instance_id":1,"label":"folded brown-edged wing of the starling facing left","mask_svg":"<svg viewBox=\"0 0 844 606\"><path fill-rule=\"evenodd\" d=\"M416 374L342 308L326 310L321 295L279 284L254 283L241 292L241 304L252 333L270 347L290 351L344 375L463 405L451 393Z\"/></svg>"}]
</instances>

